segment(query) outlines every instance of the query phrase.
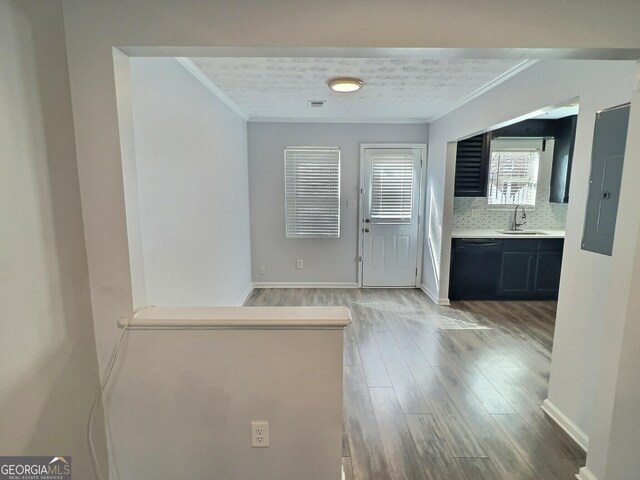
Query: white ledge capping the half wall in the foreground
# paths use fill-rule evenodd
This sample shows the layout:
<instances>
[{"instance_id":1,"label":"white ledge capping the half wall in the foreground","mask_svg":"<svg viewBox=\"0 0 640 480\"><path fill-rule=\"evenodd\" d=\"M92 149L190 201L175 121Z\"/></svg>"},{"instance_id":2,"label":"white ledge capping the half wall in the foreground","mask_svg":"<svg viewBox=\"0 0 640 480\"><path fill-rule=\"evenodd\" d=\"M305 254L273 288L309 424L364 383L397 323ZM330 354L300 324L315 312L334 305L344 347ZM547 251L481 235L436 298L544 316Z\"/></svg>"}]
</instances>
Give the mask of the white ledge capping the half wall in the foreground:
<instances>
[{"instance_id":1,"label":"white ledge capping the half wall in the foreground","mask_svg":"<svg viewBox=\"0 0 640 480\"><path fill-rule=\"evenodd\" d=\"M351 323L347 307L144 307L130 329L339 330Z\"/></svg>"}]
</instances>

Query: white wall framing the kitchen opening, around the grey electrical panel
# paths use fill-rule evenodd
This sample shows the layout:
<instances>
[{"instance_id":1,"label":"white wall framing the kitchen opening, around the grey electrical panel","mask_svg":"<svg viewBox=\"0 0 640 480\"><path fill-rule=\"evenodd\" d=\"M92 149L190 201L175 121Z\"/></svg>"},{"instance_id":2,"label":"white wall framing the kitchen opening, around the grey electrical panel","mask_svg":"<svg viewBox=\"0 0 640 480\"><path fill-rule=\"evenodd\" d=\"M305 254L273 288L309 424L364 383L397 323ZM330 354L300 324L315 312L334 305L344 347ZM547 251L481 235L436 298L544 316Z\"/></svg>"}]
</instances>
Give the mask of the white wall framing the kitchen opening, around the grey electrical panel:
<instances>
[{"instance_id":1,"label":"white wall framing the kitchen opening, around the grey electrical panel","mask_svg":"<svg viewBox=\"0 0 640 480\"><path fill-rule=\"evenodd\" d=\"M441 248L437 244L425 246L423 272L425 283L442 297L446 296L449 282L455 175L454 162L446 160L447 143L580 97L549 400L587 435L591 429L598 342L606 325L604 299L610 291L610 275L615 278L610 257L580 249L593 126L597 110L629 101L633 72L633 62L539 62L429 128L427 198L432 205L427 205L427 215L437 210L444 221ZM617 234L625 235L627 228L624 221L620 222ZM432 265L440 268L439 278Z\"/></svg>"}]
</instances>

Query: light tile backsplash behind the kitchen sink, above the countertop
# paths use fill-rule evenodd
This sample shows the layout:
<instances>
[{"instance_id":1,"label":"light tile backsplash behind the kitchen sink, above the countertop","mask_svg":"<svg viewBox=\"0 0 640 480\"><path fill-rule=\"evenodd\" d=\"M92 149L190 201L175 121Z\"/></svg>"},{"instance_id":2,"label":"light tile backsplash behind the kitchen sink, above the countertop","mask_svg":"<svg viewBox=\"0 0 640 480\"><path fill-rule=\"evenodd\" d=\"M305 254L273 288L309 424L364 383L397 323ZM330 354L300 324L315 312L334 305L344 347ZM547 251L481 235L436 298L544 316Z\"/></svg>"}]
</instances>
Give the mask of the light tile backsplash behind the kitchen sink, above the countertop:
<instances>
[{"instance_id":1,"label":"light tile backsplash behind the kitchen sink, above the countertop","mask_svg":"<svg viewBox=\"0 0 640 480\"><path fill-rule=\"evenodd\" d=\"M549 203L549 187L538 187L536 206L525 208L525 229L544 228L564 230L567 220L567 204ZM453 229L509 228L513 219L513 207L497 209L489 206L485 197L455 197L453 199ZM518 213L518 221L520 214Z\"/></svg>"}]
</instances>

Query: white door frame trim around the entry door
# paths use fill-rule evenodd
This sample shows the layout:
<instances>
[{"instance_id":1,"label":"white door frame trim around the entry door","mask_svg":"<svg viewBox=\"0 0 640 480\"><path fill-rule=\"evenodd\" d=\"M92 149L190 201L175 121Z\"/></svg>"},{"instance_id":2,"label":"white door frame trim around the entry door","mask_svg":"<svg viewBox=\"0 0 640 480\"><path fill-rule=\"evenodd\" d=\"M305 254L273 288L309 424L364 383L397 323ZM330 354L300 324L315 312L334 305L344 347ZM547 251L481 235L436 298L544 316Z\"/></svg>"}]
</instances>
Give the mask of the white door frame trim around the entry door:
<instances>
[{"instance_id":1,"label":"white door frame trim around the entry door","mask_svg":"<svg viewBox=\"0 0 640 480\"><path fill-rule=\"evenodd\" d=\"M427 172L427 144L426 143L361 143L360 144L360 183L358 186L358 258L357 258L357 270L358 270L358 288L362 287L362 253L364 245L364 155L367 149L378 148L404 148L404 149L418 149L420 150L420 171L418 172L418 251L416 255L416 288L420 288L422 278L422 256L424 247L424 206L425 206L425 181ZM377 288L377 287L367 287ZM380 287L382 288L382 287ZM394 287L384 287L394 288ZM398 287L406 288L406 287Z\"/></svg>"}]
</instances>

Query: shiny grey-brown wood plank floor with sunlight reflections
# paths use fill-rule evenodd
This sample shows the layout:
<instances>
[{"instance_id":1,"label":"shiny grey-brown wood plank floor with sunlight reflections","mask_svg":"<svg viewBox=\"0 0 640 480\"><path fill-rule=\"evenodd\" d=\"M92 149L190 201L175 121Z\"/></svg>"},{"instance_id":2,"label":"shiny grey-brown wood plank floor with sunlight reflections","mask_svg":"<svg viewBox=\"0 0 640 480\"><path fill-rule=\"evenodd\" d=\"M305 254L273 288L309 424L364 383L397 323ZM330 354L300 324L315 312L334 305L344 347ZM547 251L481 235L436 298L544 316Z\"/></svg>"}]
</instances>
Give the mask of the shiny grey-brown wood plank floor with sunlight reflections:
<instances>
[{"instance_id":1,"label":"shiny grey-brown wood plank floor with sunlight reflections","mask_svg":"<svg viewBox=\"0 0 640 480\"><path fill-rule=\"evenodd\" d=\"M573 480L584 452L540 409L555 302L416 289L264 289L248 305L346 305L347 480Z\"/></svg>"}]
</instances>

